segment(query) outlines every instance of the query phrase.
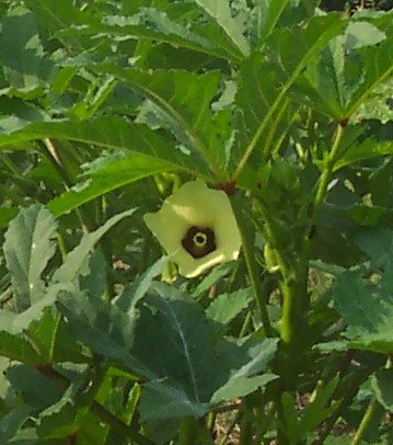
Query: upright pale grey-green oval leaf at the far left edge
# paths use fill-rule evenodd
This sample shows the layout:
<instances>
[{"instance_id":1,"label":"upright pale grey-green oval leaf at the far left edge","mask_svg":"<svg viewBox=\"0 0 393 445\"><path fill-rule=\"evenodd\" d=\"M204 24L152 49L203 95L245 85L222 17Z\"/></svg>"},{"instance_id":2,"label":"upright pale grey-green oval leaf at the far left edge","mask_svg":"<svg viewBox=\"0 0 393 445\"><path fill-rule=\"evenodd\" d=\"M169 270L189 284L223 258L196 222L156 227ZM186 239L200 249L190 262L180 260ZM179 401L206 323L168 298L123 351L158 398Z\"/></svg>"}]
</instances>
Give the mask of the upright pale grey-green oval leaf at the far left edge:
<instances>
[{"instance_id":1,"label":"upright pale grey-green oval leaf at the far left edge","mask_svg":"<svg viewBox=\"0 0 393 445\"><path fill-rule=\"evenodd\" d=\"M23 209L9 226L3 249L18 311L43 296L42 274L55 253L56 229L55 218L39 204Z\"/></svg>"}]
</instances>

